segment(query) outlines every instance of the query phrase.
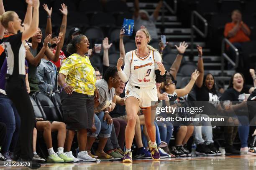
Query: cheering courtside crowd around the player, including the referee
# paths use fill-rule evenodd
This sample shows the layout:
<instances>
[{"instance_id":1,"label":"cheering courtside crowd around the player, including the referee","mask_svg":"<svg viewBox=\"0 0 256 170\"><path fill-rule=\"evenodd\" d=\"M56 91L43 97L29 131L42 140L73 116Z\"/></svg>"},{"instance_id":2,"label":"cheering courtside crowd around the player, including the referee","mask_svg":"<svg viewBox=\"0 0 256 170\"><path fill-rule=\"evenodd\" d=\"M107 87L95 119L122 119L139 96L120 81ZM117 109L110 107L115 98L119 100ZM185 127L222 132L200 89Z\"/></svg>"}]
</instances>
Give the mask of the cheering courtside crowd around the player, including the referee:
<instances>
[{"instance_id":1,"label":"cheering courtside crowd around the player, including the referee","mask_svg":"<svg viewBox=\"0 0 256 170\"><path fill-rule=\"evenodd\" d=\"M0 46L0 160L36 160L40 163L121 160L125 152L125 127L129 117L126 115L124 102L125 83L121 81L117 67L110 67L109 64L108 49L112 44L109 44L108 37L102 40L103 72L101 73L90 62L90 57L94 57L95 51L100 50L101 47L90 49L90 40L86 35L82 35L79 28L69 30L69 38L64 42L68 15L68 7L65 4L61 4L60 9L62 22L59 35L52 34L52 8L49 9L46 4L41 5L48 15L45 18L46 34L42 40L41 29L38 28L39 0L26 0L26 2L27 12L25 20L21 23L15 12L4 11L3 0L0 0L0 37L3 42ZM158 17L161 3L160 1L156 7L156 12L149 16L145 11L139 10L138 0L135 0L136 30L146 28L152 38L158 38L154 21ZM250 34L250 31L241 21L239 11L235 10L232 13L232 19L233 22L226 25L224 34L237 46L241 41L248 40L245 37ZM120 57L124 58L123 34L124 30L120 30ZM241 38L243 40L237 41ZM158 49L160 54L164 46L160 41ZM254 149L256 130L250 134L249 126L254 117L251 114L255 110L250 112L246 102L248 99L255 100L255 71L250 70L254 81L253 86L247 85L243 74L236 72L230 77L228 89L221 94L216 89L214 76L204 74L203 49L197 46L199 55L197 70L192 72L191 80L184 88L176 89L177 72L187 47L186 42L176 46L178 51L176 60L172 67L165 68L166 80L163 83L156 83L158 107L190 107L184 101L188 100L187 96L190 93L194 93L198 105L200 101L209 102L205 106L204 114L197 114L195 117L202 115L216 117L228 112L233 113L231 116L228 116L229 114L224 116L226 153L256 155ZM26 60L22 60L21 58L25 56ZM11 62L14 64L10 64ZM24 63L26 66L22 67ZM18 75L23 76L24 82L19 81L18 78L15 79ZM33 95L38 91L48 96L54 92L60 93L62 122L35 117L28 94ZM251 95L248 97L244 94ZM228 105L223 105L220 101L229 102ZM166 117L169 114L170 112L162 112L161 116ZM191 117L191 114L182 112L177 116ZM146 121L142 111L138 110L136 121L134 121L135 141L133 142L136 148L133 148L134 157L138 159L151 158L148 150L150 138L146 130ZM183 121L182 123L155 121L154 125L156 144L161 158L191 156L187 144L190 138L193 138L197 145L196 155L222 154L218 150L219 146L214 144L212 123L209 121ZM46 160L36 152L37 132L42 134L46 144L48 151ZM57 148L53 148L52 132L57 132ZM241 141L240 151L233 146L237 133ZM248 148L249 135L253 135L253 145L250 149ZM75 136L78 143L77 154L72 152ZM171 143L172 136L174 143ZM97 147L93 145L95 141L98 141Z\"/></svg>"}]
</instances>

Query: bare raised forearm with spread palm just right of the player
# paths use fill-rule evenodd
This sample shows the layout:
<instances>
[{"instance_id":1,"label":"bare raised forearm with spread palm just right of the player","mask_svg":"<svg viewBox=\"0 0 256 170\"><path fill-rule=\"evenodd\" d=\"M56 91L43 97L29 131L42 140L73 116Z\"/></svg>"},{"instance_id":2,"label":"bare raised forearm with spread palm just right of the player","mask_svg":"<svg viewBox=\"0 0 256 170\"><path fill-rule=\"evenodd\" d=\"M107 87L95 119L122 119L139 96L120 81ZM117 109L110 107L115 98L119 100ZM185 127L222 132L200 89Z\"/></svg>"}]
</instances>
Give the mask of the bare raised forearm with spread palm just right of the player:
<instances>
[{"instance_id":1,"label":"bare raised forearm with spread palm just right of the player","mask_svg":"<svg viewBox=\"0 0 256 170\"><path fill-rule=\"evenodd\" d=\"M175 45L175 47L178 50L178 55L177 55L176 59L174 60L174 62L172 63L172 66L169 71L169 73L174 77L174 79L176 79L177 72L179 71L179 66L182 61L182 57L183 57L184 52L186 51L188 45L185 41L183 41L183 42L179 43L179 47L177 45Z\"/></svg>"}]
</instances>

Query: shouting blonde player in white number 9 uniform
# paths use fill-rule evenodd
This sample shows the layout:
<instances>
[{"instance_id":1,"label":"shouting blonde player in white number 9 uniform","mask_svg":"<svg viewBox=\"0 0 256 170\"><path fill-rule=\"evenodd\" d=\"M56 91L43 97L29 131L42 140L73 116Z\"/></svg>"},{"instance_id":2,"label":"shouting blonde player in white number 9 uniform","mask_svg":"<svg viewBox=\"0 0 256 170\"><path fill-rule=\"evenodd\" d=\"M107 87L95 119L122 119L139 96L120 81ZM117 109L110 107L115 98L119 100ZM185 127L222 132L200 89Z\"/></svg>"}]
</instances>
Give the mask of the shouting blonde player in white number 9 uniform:
<instances>
[{"instance_id":1,"label":"shouting blonde player in white number 9 uniform","mask_svg":"<svg viewBox=\"0 0 256 170\"><path fill-rule=\"evenodd\" d=\"M156 82L164 82L166 71L161 63L161 55L153 47L148 45L151 37L148 30L141 29L136 32L136 50L125 55L124 69L121 69L123 57L118 59L118 74L123 82L128 83L125 87L125 105L128 116L128 123L125 129L126 152L123 162L132 162L131 145L134 138L134 128L139 107L145 115L146 128L150 141L148 146L151 151L151 158L159 160L160 154L156 146L156 127L154 126L154 115L157 105ZM156 104L151 104L155 101ZM152 107L152 108L151 108Z\"/></svg>"}]
</instances>

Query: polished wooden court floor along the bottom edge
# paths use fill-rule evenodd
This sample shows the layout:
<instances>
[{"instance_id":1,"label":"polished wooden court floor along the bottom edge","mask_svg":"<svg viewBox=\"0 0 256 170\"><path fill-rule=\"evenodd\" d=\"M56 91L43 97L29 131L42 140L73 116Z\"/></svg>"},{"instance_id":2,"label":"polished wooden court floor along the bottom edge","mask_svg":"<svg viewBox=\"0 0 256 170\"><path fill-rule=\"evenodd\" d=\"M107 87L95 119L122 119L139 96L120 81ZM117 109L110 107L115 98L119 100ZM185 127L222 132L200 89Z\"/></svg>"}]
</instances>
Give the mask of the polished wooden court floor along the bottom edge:
<instances>
[{"instance_id":1,"label":"polished wooden court floor along the bottom edge","mask_svg":"<svg viewBox=\"0 0 256 170\"><path fill-rule=\"evenodd\" d=\"M28 169L4 167L4 169ZM256 170L256 157L251 155L172 158L152 160L133 160L133 163L120 161L101 161L97 163L42 164L42 170Z\"/></svg>"}]
</instances>

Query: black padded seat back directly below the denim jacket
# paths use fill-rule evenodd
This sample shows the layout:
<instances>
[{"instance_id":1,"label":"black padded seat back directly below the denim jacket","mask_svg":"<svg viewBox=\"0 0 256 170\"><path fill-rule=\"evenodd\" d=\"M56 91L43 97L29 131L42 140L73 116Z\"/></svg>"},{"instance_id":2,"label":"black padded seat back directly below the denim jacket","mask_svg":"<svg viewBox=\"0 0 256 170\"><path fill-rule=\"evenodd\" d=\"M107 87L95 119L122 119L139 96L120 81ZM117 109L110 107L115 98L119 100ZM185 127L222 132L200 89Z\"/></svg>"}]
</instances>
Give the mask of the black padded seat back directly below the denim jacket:
<instances>
[{"instance_id":1,"label":"black padded seat back directly below the denim jacket","mask_svg":"<svg viewBox=\"0 0 256 170\"><path fill-rule=\"evenodd\" d=\"M41 111L43 110L46 115L46 120L62 121L62 116L57 112L54 103L51 99L42 92L35 92L33 98L36 100Z\"/></svg>"}]
</instances>

